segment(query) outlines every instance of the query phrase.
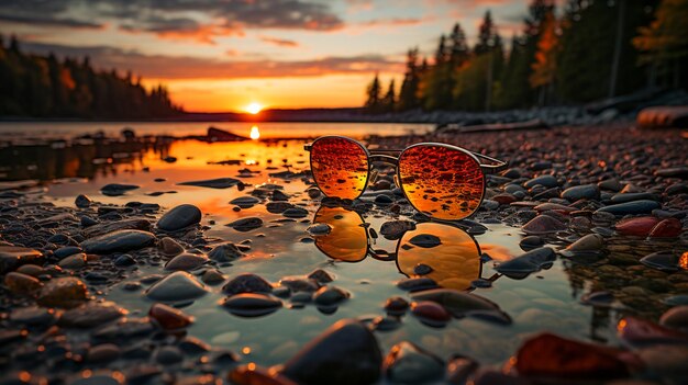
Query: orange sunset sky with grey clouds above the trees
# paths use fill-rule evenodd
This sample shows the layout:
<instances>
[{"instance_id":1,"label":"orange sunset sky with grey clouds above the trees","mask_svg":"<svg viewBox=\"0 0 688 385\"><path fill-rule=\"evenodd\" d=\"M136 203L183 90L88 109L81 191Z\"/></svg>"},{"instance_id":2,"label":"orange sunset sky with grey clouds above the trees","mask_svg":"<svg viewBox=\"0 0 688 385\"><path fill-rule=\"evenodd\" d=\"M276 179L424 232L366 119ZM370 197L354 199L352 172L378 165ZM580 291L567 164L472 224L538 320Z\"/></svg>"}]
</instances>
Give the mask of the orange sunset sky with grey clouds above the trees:
<instances>
[{"instance_id":1,"label":"orange sunset sky with grey clouds above the trees","mask_svg":"<svg viewBox=\"0 0 688 385\"><path fill-rule=\"evenodd\" d=\"M473 42L488 9L509 41L528 2L2 0L0 33L163 82L187 111L358 106L376 71L401 80L408 48L431 55L457 21Z\"/></svg>"}]
</instances>

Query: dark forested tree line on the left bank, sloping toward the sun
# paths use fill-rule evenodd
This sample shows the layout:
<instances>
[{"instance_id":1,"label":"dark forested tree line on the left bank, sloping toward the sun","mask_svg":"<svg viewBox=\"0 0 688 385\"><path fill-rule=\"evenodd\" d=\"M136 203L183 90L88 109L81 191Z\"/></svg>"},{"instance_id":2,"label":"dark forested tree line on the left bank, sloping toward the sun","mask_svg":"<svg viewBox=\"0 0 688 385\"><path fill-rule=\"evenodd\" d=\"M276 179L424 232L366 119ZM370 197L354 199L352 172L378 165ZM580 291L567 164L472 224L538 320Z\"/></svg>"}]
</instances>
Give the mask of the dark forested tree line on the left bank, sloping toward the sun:
<instances>
[{"instance_id":1,"label":"dark forested tree line on the left bank, sloping toward the sun","mask_svg":"<svg viewBox=\"0 0 688 385\"><path fill-rule=\"evenodd\" d=\"M181 113L167 89L146 90L131 71L98 71L88 57L31 55L0 36L0 116L149 118Z\"/></svg>"}]
</instances>

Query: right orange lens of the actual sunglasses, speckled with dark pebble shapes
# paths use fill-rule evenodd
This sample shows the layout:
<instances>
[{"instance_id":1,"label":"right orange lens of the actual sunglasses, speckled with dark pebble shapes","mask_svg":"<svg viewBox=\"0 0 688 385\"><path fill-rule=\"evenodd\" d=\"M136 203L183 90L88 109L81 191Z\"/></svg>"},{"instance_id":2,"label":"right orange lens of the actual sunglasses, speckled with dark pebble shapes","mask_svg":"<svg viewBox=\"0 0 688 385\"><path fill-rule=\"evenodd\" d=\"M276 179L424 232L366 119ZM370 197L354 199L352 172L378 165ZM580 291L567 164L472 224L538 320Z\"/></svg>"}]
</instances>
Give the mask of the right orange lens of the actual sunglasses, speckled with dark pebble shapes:
<instances>
[{"instance_id":1,"label":"right orange lens of the actual sunglasses, speckled with dark pebble shapes","mask_svg":"<svg viewBox=\"0 0 688 385\"><path fill-rule=\"evenodd\" d=\"M458 149L422 145L408 148L399 158L401 186L420 212L440 219L460 219L473 214L485 193L480 165Z\"/></svg>"}]
</instances>

